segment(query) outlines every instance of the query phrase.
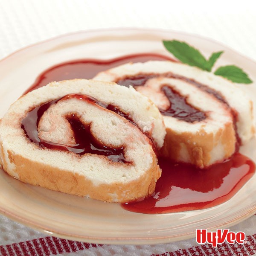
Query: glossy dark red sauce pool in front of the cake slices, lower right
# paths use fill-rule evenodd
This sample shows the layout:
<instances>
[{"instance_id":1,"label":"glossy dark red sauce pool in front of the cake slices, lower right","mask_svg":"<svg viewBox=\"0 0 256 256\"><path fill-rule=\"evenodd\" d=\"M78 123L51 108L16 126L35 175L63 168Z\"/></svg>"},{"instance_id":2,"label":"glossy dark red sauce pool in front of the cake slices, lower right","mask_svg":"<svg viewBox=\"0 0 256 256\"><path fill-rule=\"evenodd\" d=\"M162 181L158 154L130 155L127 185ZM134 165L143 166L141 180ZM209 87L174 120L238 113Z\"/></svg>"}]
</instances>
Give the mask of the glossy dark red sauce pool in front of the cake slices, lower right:
<instances>
[{"instance_id":1,"label":"glossy dark red sauce pool in front of the cake slices, lower right","mask_svg":"<svg viewBox=\"0 0 256 256\"><path fill-rule=\"evenodd\" d=\"M154 194L122 204L124 209L156 214L213 207L233 197L255 172L255 164L239 153L204 170L164 158L159 159L159 165L162 176Z\"/></svg>"}]
</instances>

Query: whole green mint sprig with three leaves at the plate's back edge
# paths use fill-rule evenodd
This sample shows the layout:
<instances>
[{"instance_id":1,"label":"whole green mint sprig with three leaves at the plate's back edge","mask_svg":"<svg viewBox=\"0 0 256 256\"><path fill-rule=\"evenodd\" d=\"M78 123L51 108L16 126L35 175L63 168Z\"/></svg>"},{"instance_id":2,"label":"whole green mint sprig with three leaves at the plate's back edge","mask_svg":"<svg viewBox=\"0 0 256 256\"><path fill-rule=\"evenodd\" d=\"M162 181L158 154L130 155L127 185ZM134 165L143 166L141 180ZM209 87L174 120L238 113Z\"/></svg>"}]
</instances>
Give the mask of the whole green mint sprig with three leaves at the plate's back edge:
<instances>
[{"instance_id":1,"label":"whole green mint sprig with three leaves at the plate's back edge","mask_svg":"<svg viewBox=\"0 0 256 256\"><path fill-rule=\"evenodd\" d=\"M163 41L163 45L181 62L189 64L190 66L199 67L208 72L211 72L215 62L223 53L223 51L213 52L207 60L198 49L195 49L185 42L177 40ZM250 84L253 82L241 68L235 65L219 67L214 74L223 76L236 83Z\"/></svg>"}]
</instances>

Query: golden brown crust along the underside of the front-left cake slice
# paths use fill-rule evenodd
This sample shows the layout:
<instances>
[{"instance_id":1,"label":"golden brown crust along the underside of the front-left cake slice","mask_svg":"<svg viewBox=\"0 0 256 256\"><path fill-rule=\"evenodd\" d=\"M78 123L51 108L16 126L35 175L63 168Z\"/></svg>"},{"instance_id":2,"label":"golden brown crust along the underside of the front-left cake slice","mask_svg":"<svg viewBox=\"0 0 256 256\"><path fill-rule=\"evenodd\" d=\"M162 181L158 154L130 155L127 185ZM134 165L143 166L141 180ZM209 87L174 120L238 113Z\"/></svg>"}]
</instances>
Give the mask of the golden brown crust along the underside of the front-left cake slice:
<instances>
[{"instance_id":1,"label":"golden brown crust along the underside of the front-left cake slice","mask_svg":"<svg viewBox=\"0 0 256 256\"><path fill-rule=\"evenodd\" d=\"M154 192L156 180L161 176L157 158L152 156L153 163L147 175L126 184L112 183L94 186L90 180L77 173L37 163L21 155L16 155L11 150L7 152L8 156L5 156L1 144L0 154L3 169L12 175L9 173L8 163L6 162L6 157L8 157L9 162L15 164L14 172L19 176L20 181L71 195L88 196L101 201L113 202L111 194L116 194L117 201L120 203L151 195Z\"/></svg>"}]
</instances>

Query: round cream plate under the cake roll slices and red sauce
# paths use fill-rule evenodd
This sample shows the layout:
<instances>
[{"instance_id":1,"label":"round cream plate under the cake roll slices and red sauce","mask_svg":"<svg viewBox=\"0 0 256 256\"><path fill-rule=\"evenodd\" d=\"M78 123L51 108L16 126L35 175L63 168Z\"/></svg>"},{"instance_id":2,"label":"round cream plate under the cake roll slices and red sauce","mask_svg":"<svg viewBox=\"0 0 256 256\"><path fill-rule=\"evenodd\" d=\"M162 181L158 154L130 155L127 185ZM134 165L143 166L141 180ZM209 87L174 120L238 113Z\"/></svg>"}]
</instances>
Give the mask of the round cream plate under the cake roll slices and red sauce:
<instances>
[{"instance_id":1,"label":"round cream plate under the cake roll slices and red sauce","mask_svg":"<svg viewBox=\"0 0 256 256\"><path fill-rule=\"evenodd\" d=\"M216 66L236 64L256 81L256 63L221 44L162 30L114 29L79 32L36 44L0 62L0 115L36 77L54 64L79 58L110 59L131 53L169 55L162 40L182 40L207 57L224 50ZM241 85L256 102L255 84ZM1 116L0 116L1 117ZM241 152L256 160L256 140ZM195 236L196 228L230 227L256 212L256 175L229 201L204 210L147 215L119 204L53 192L21 183L0 170L0 212L30 227L67 239L106 244L156 244Z\"/></svg>"}]
</instances>

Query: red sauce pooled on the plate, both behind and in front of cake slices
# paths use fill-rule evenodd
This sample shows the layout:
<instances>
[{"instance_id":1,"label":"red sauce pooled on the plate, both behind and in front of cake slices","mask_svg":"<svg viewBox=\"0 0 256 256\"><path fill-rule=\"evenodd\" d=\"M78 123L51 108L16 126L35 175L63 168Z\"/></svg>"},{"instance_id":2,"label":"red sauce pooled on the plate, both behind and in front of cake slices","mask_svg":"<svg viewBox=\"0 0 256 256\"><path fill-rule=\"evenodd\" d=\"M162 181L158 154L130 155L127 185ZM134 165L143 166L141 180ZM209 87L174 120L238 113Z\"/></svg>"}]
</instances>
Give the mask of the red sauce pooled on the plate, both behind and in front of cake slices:
<instances>
[{"instance_id":1,"label":"red sauce pooled on the plate, both behind and in front of cake slices","mask_svg":"<svg viewBox=\"0 0 256 256\"><path fill-rule=\"evenodd\" d=\"M51 81L92 79L103 70L128 62L149 60L174 61L153 53L127 55L111 60L68 61L45 70L25 93ZM162 176L157 181L154 194L140 201L122 204L124 209L156 214L213 207L233 197L255 172L253 161L238 152L224 163L214 164L204 170L187 164L172 163L161 157L158 160Z\"/></svg>"}]
</instances>

